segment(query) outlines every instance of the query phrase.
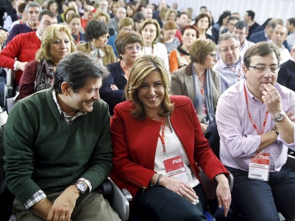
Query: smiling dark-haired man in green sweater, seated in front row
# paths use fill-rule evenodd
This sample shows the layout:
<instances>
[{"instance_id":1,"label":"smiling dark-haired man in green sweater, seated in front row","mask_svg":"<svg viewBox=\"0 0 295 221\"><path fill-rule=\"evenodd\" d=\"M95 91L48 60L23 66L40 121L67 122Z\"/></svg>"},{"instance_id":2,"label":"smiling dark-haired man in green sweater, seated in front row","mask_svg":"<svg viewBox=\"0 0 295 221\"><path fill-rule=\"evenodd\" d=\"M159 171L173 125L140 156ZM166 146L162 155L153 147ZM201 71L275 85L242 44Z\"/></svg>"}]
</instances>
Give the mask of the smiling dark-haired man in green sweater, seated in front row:
<instances>
[{"instance_id":1,"label":"smiling dark-haired man in green sweater, seated in front row","mask_svg":"<svg viewBox=\"0 0 295 221\"><path fill-rule=\"evenodd\" d=\"M120 220L95 189L112 169L105 67L84 52L58 63L52 89L18 101L4 134L17 220Z\"/></svg>"}]
</instances>

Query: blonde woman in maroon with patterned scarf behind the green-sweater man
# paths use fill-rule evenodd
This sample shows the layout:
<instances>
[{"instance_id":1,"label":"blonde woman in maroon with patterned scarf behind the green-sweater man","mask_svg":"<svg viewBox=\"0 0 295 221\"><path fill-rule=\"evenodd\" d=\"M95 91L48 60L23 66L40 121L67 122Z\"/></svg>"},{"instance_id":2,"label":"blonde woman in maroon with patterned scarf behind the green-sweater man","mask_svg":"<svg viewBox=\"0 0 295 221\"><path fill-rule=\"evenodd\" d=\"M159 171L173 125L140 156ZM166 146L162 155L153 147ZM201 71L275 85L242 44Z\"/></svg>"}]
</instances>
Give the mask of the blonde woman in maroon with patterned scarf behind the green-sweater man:
<instances>
[{"instance_id":1,"label":"blonde woman in maroon with patterned scarf behind the green-sweater man","mask_svg":"<svg viewBox=\"0 0 295 221\"><path fill-rule=\"evenodd\" d=\"M55 67L60 60L76 51L71 31L64 25L51 25L42 35L41 49L29 62L19 82L19 98L48 89L53 84Z\"/></svg>"}]
</instances>

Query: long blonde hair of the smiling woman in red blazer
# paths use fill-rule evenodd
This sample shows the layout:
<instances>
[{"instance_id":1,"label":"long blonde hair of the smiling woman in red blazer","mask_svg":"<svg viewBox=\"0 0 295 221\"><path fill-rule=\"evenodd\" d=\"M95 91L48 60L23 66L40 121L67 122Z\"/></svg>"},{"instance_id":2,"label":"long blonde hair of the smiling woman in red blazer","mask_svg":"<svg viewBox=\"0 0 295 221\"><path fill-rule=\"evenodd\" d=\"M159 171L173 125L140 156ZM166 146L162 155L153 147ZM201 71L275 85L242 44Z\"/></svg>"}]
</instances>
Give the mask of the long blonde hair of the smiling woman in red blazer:
<instances>
[{"instance_id":1,"label":"long blonde hair of the smiling woman in red blazer","mask_svg":"<svg viewBox=\"0 0 295 221\"><path fill-rule=\"evenodd\" d=\"M173 111L173 104L171 104L169 99L169 75L162 59L155 55L142 55L134 61L131 67L128 82L125 86L126 99L132 101L135 105L135 109L131 111L131 114L137 119L142 120L145 118L145 116L147 116L144 105L139 98L138 92L143 79L154 71L158 71L160 73L165 90L164 100L162 102L164 113L159 113L159 115L168 115L171 114L171 112Z\"/></svg>"}]
</instances>

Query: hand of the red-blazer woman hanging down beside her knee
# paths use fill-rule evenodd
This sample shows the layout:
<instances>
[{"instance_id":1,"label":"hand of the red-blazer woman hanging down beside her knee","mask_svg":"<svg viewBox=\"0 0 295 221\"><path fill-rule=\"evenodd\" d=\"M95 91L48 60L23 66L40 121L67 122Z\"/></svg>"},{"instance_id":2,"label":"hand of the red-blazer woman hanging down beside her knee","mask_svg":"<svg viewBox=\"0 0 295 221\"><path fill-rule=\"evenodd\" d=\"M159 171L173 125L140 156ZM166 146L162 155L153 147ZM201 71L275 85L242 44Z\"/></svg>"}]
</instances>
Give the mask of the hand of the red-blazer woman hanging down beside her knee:
<instances>
[{"instance_id":1,"label":"hand of the red-blazer woman hanging down beside her knee","mask_svg":"<svg viewBox=\"0 0 295 221\"><path fill-rule=\"evenodd\" d=\"M216 196L218 200L218 205L224 208L224 216L227 216L229 206L231 204L231 193L229 189L229 184L226 176L221 174L217 178L218 186L216 189Z\"/></svg>"}]
</instances>

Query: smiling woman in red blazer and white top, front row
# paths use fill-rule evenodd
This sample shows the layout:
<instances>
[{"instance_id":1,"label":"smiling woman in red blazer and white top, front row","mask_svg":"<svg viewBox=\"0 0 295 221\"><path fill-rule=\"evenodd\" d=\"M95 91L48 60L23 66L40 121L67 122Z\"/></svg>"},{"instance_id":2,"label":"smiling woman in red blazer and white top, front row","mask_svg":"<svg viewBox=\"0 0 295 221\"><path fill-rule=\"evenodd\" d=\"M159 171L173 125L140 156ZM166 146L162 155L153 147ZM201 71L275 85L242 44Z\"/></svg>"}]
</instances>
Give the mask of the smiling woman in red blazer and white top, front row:
<instances>
[{"instance_id":1,"label":"smiling woman in red blazer and white top, front row","mask_svg":"<svg viewBox=\"0 0 295 221\"><path fill-rule=\"evenodd\" d=\"M218 182L227 214L228 171L204 138L188 97L169 95L169 76L154 55L136 59L111 123L111 178L133 196L131 214L140 220L206 220L199 166Z\"/></svg>"}]
</instances>

